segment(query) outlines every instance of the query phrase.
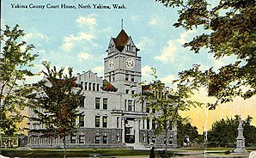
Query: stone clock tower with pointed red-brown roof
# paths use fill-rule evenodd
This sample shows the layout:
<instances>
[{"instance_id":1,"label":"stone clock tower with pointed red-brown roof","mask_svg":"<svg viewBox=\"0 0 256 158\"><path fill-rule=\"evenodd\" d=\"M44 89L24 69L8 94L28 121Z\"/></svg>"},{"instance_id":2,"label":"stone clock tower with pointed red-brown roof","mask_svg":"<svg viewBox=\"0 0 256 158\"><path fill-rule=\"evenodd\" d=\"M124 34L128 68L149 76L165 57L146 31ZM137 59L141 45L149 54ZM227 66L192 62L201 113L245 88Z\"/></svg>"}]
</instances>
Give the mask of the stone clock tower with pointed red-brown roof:
<instances>
[{"instance_id":1,"label":"stone clock tower with pointed red-brown roof","mask_svg":"<svg viewBox=\"0 0 256 158\"><path fill-rule=\"evenodd\" d=\"M124 29L109 42L107 58L104 58L104 76L121 94L127 94L127 90L139 93L141 57L137 57L138 51Z\"/></svg>"}]
</instances>

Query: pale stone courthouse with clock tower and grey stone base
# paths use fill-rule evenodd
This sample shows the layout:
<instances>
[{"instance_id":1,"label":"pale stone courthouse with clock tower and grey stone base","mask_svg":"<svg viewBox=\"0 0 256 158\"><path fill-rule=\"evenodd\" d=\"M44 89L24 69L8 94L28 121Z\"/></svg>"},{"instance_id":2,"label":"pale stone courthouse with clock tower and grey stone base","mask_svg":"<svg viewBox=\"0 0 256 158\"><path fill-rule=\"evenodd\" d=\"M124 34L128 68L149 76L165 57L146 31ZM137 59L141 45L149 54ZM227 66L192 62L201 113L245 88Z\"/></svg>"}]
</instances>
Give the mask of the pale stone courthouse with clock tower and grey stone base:
<instances>
[{"instance_id":1,"label":"pale stone courthouse with clock tower and grey stone base","mask_svg":"<svg viewBox=\"0 0 256 158\"><path fill-rule=\"evenodd\" d=\"M82 84L84 102L79 107L82 116L76 119L78 131L67 137L68 148L124 148L177 146L177 129L173 126L168 137L157 136L155 121L146 119L149 108L133 94L142 93L141 60L139 49L125 30L111 38L104 58L104 78L91 70L77 74L76 82ZM33 112L31 112L33 114ZM39 128L30 125L30 128ZM29 147L56 148L62 139L39 137L29 132Z\"/></svg>"}]
</instances>

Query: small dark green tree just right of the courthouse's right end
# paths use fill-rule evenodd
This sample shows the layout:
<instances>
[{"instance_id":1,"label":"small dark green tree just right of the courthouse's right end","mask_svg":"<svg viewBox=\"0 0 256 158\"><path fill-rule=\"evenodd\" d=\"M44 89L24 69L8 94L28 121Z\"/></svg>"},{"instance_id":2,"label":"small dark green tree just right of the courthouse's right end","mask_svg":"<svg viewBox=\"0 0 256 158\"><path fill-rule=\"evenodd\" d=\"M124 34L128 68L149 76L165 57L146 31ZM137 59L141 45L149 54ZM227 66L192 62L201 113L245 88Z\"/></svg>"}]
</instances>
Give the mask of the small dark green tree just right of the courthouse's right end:
<instances>
[{"instance_id":1,"label":"small dark green tree just right of the courthouse's right end","mask_svg":"<svg viewBox=\"0 0 256 158\"><path fill-rule=\"evenodd\" d=\"M192 126L189 122L184 122L182 119L177 121L177 129L178 129L178 144L183 146L184 143L186 145L190 145L191 143L195 143L198 139L198 128L196 126ZM189 138L189 142L186 141L186 137Z\"/></svg>"}]
</instances>

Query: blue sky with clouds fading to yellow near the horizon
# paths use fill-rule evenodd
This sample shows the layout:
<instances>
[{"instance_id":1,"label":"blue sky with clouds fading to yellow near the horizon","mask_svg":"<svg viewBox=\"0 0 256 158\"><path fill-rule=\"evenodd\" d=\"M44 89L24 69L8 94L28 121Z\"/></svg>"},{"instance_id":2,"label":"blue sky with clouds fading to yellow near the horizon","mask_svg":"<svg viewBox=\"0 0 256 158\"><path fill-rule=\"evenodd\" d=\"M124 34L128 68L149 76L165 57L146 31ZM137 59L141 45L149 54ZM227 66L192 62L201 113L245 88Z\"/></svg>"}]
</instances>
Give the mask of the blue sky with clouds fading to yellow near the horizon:
<instances>
[{"instance_id":1,"label":"blue sky with clouds fading to yellow near the horizon","mask_svg":"<svg viewBox=\"0 0 256 158\"><path fill-rule=\"evenodd\" d=\"M61 4L74 5L76 9L61 9ZM125 6L125 9L113 9L113 4ZM15 8L17 5L27 6L27 9ZM79 9L79 5L84 9ZM94 9L94 5L110 6L111 9ZM37 6L45 7L35 8ZM55 6L58 8L54 9ZM86 6L90 8L86 9ZM19 24L26 33L21 40L34 44L34 52L39 52L40 56L34 61L34 72L42 69L42 61L48 61L58 68L72 67L75 73L92 70L103 76L107 46L122 26L141 50L138 56L142 57L142 81L152 79L149 73L154 67L162 82L171 87L178 73L192 68L192 64L201 64L202 69L213 66L217 70L235 61L235 57L216 60L206 52L194 54L189 48L182 47L202 30L185 31L174 27L177 10L166 8L155 0L5 0L1 7L1 28ZM27 78L27 81L36 82L39 78ZM202 102L213 100L204 90L193 97ZM231 118L235 114L242 118L252 116L252 124L256 125L255 102L256 97L250 100L238 98L217 106L215 111L208 112L205 107L192 108L181 115L189 116L199 132L210 129L215 120Z\"/></svg>"}]
</instances>

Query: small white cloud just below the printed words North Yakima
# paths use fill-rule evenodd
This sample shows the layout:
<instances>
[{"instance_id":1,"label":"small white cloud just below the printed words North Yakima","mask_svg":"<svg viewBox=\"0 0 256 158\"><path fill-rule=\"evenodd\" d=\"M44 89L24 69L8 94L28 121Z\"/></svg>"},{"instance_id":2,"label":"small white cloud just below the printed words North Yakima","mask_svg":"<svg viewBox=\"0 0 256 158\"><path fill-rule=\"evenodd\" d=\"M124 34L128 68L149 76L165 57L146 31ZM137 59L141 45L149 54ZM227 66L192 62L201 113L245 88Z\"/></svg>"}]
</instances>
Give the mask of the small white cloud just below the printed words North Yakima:
<instances>
[{"instance_id":1,"label":"small white cloud just below the printed words North Yakima","mask_svg":"<svg viewBox=\"0 0 256 158\"><path fill-rule=\"evenodd\" d=\"M88 16L80 16L76 19L76 23L79 27L88 26L90 29L94 29L94 25L97 24L94 14Z\"/></svg>"}]
</instances>

